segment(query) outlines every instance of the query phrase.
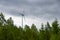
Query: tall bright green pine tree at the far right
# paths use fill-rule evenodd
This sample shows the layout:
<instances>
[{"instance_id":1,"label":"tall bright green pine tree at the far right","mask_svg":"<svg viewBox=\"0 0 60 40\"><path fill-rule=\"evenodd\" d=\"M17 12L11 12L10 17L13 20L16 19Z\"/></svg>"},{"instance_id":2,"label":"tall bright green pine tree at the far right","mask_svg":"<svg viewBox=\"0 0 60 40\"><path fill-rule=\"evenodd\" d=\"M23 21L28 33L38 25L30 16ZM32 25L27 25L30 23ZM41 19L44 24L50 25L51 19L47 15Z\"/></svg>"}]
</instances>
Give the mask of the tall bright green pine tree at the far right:
<instances>
[{"instance_id":1,"label":"tall bright green pine tree at the far right","mask_svg":"<svg viewBox=\"0 0 60 40\"><path fill-rule=\"evenodd\" d=\"M57 19L52 23L52 33L50 40L58 40L59 24Z\"/></svg>"}]
</instances>

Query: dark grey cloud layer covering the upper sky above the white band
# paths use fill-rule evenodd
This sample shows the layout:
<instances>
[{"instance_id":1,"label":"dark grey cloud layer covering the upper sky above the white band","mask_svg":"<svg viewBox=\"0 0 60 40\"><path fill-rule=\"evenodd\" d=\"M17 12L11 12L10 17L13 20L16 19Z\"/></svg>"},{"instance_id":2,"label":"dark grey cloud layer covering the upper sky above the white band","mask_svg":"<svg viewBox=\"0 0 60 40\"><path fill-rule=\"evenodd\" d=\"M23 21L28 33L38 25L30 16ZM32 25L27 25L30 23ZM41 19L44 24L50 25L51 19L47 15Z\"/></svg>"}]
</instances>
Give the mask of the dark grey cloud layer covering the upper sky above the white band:
<instances>
[{"instance_id":1,"label":"dark grey cloud layer covering the upper sky above the white band","mask_svg":"<svg viewBox=\"0 0 60 40\"><path fill-rule=\"evenodd\" d=\"M0 8L1 10L3 9L3 11L7 10L7 13L15 16L19 16L20 12L16 10L16 8L9 8L9 6L17 7L18 9L22 8L26 16L44 18L46 16L46 18L49 18L51 16L58 17L60 15L59 2L60 0L0 0L0 4L4 6ZM47 14L51 16L47 17Z\"/></svg>"}]
</instances>

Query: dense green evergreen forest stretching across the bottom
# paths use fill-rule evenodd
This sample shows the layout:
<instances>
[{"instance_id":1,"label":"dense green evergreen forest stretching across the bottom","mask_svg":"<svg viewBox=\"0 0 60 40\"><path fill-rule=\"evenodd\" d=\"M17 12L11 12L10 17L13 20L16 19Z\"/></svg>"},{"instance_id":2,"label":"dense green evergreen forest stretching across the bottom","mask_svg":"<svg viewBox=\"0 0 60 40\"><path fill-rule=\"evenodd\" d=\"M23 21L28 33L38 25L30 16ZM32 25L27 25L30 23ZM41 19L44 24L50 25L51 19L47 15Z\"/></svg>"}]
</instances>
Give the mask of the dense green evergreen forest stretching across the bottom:
<instances>
[{"instance_id":1,"label":"dense green evergreen forest stretching across the bottom","mask_svg":"<svg viewBox=\"0 0 60 40\"><path fill-rule=\"evenodd\" d=\"M50 25L49 22L43 23L38 30L35 24L25 25L19 28L14 25L13 19L5 19L3 13L0 13L0 40L60 40L60 26L55 19Z\"/></svg>"}]
</instances>

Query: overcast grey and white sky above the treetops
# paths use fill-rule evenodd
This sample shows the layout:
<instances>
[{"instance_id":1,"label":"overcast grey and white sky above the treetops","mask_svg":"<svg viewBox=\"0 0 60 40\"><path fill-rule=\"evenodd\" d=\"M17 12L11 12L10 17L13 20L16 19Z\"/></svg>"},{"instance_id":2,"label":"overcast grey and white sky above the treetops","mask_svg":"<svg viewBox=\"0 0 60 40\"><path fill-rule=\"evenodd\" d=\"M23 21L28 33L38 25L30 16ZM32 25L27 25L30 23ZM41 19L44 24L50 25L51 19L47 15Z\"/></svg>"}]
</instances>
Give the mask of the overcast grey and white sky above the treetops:
<instances>
[{"instance_id":1,"label":"overcast grey and white sky above the treetops","mask_svg":"<svg viewBox=\"0 0 60 40\"><path fill-rule=\"evenodd\" d=\"M12 17L17 26L22 24L20 14L23 13L24 25L35 24L40 28L41 23L60 20L60 0L0 0L0 12L6 19Z\"/></svg>"}]
</instances>

